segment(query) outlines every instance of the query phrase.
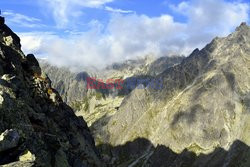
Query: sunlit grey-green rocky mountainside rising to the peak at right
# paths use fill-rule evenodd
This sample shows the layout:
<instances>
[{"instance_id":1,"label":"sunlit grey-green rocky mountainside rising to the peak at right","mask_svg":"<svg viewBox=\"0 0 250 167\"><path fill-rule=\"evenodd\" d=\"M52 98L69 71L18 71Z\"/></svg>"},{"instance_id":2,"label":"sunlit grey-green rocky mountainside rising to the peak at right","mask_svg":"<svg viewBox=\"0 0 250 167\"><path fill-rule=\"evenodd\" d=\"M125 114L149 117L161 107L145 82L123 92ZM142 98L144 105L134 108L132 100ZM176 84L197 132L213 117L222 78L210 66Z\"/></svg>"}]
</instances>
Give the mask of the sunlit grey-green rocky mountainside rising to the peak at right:
<instances>
[{"instance_id":1,"label":"sunlit grey-green rocky mountainside rising to the peak at right","mask_svg":"<svg viewBox=\"0 0 250 167\"><path fill-rule=\"evenodd\" d=\"M163 79L161 90L133 90L102 127L103 142L119 147L144 138L155 147L162 145L175 153L187 150L197 156L220 147L230 152L221 159L212 154L210 160L217 163L211 166L230 166L232 160L242 160L237 154L230 157L237 150L232 144L239 140L250 145L249 73L250 27L242 23L234 33L215 38L157 75ZM154 153L148 150L151 147L144 152L143 164ZM249 149L245 158L250 158ZM140 163L137 159L131 164ZM249 166L249 161L241 165Z\"/></svg>"}]
</instances>

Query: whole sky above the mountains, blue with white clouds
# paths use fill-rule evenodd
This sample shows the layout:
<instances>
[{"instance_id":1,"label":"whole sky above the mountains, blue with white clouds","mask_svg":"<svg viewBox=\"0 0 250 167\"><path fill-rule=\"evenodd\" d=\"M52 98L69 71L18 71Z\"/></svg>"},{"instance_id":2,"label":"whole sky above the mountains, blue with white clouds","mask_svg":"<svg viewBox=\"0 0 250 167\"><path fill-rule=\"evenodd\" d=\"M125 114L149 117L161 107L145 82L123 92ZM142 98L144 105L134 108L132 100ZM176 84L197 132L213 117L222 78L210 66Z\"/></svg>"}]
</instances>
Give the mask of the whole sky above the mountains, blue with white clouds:
<instances>
[{"instance_id":1,"label":"whole sky above the mountains, blue with white clouds","mask_svg":"<svg viewBox=\"0 0 250 167\"><path fill-rule=\"evenodd\" d=\"M249 23L250 9L248 0L1 0L0 6L25 53L74 67L188 55Z\"/></svg>"}]
</instances>

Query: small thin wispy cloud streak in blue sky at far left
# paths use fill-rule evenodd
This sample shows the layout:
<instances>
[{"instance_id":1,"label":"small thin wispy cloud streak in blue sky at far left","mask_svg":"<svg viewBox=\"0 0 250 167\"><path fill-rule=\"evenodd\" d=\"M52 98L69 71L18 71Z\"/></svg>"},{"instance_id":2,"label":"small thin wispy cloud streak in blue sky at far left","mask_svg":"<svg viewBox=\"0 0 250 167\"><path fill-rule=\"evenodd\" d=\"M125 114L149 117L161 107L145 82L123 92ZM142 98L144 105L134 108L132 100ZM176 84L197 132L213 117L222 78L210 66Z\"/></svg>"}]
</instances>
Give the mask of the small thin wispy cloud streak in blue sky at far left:
<instances>
[{"instance_id":1,"label":"small thin wispy cloud streak in blue sky at far left","mask_svg":"<svg viewBox=\"0 0 250 167\"><path fill-rule=\"evenodd\" d=\"M28 27L28 28L45 26L41 24L40 19L29 17L20 13L15 13L11 10L3 11L2 15L7 18L6 19L7 24L9 25L15 25L19 27Z\"/></svg>"}]
</instances>

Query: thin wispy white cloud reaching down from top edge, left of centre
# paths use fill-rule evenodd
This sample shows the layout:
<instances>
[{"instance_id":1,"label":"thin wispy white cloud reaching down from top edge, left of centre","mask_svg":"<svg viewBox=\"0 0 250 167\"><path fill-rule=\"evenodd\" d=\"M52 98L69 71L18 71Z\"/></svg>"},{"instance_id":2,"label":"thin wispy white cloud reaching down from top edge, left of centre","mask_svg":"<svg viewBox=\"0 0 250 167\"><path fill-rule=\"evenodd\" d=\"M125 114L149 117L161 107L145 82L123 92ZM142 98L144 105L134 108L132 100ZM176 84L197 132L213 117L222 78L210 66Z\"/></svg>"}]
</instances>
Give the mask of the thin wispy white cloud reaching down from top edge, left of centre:
<instances>
[{"instance_id":1,"label":"thin wispy white cloud reaching down from top edge, left of centre","mask_svg":"<svg viewBox=\"0 0 250 167\"><path fill-rule=\"evenodd\" d=\"M100 8L114 0L40 0L41 5L48 5L59 28L67 26L73 18L81 16L81 7Z\"/></svg>"}]
</instances>

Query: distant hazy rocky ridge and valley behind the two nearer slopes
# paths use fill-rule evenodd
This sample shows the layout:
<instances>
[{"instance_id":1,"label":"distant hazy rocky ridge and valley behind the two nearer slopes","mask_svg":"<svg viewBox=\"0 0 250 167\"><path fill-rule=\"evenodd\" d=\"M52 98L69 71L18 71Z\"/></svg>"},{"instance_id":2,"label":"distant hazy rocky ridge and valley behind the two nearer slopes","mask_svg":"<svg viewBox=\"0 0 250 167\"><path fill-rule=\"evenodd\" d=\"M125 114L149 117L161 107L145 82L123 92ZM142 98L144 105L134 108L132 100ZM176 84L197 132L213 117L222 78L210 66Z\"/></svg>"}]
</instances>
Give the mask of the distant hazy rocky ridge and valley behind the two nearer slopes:
<instances>
[{"instance_id":1,"label":"distant hazy rocky ridge and valley behind the two nearer slopes","mask_svg":"<svg viewBox=\"0 0 250 167\"><path fill-rule=\"evenodd\" d=\"M117 112L124 97L131 92L131 89L126 88L126 83L133 79L152 78L169 67L180 64L183 59L181 56L146 56L113 63L102 70L86 68L85 72L72 72L65 67L53 66L46 60L39 60L39 63L63 101L74 109L76 115L84 117L98 144L102 141L99 134L102 126ZM87 89L88 77L102 79L104 82L108 79L123 79L123 89Z\"/></svg>"}]
</instances>

